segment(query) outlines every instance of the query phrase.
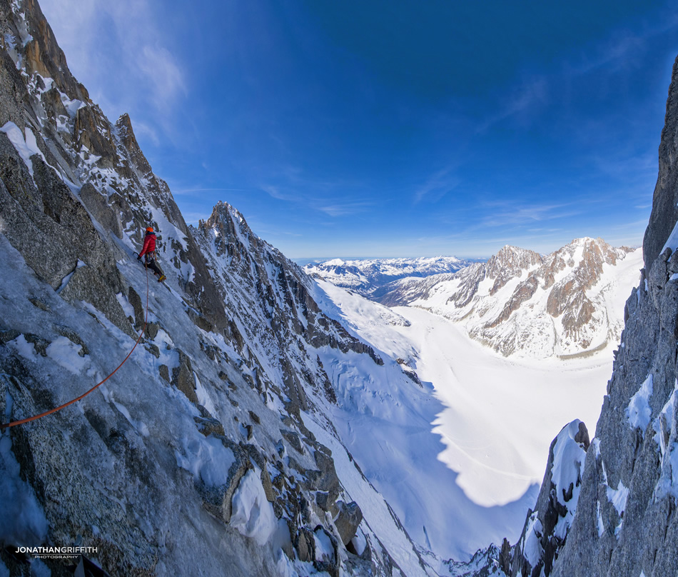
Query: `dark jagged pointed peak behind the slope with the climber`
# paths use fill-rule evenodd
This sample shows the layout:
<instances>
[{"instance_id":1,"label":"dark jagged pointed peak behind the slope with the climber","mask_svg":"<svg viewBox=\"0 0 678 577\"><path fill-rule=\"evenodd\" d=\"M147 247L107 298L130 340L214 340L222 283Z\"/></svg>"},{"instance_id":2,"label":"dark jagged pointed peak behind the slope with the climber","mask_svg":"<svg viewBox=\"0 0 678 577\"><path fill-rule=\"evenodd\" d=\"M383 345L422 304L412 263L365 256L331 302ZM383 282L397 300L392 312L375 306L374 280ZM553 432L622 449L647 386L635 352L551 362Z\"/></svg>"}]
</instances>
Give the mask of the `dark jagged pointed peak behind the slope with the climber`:
<instances>
[{"instance_id":1,"label":"dark jagged pointed peak behind the slope with the climber","mask_svg":"<svg viewBox=\"0 0 678 577\"><path fill-rule=\"evenodd\" d=\"M201 221L192 234L208 258L220 293L225 295L226 310L238 319L229 323L229 340L239 350L243 350L246 341L259 343L260 351L246 351L248 355L276 351L285 393L291 401L288 410L308 409L305 386L336 402L323 363L311 352L314 348L328 346L344 353L366 354L377 365L383 365L383 359L371 346L320 310L312 295L313 281L256 236L232 206L218 203L210 218ZM262 330L255 318L267 318L273 330ZM295 365L307 368L295 371ZM261 377L260 371L256 374ZM270 383L260 378L257 386L265 389Z\"/></svg>"}]
</instances>

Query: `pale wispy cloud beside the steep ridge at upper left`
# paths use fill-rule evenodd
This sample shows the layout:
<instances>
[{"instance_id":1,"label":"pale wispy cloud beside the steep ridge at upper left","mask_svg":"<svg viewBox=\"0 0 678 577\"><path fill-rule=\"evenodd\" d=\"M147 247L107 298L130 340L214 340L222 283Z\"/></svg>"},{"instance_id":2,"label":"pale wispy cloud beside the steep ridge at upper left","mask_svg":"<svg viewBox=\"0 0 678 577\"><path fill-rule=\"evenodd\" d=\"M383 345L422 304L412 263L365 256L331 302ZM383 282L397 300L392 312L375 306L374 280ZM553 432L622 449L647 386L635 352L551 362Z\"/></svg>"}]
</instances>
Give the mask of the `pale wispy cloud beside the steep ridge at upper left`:
<instances>
[{"instance_id":1,"label":"pale wispy cloud beside the steep ridge at upper left","mask_svg":"<svg viewBox=\"0 0 678 577\"><path fill-rule=\"evenodd\" d=\"M123 112L159 144L188 95L186 71L153 0L41 0L69 69L114 120ZM143 111L143 114L142 114ZM134 117L145 119L138 127ZM151 126L151 119L155 126Z\"/></svg>"}]
</instances>

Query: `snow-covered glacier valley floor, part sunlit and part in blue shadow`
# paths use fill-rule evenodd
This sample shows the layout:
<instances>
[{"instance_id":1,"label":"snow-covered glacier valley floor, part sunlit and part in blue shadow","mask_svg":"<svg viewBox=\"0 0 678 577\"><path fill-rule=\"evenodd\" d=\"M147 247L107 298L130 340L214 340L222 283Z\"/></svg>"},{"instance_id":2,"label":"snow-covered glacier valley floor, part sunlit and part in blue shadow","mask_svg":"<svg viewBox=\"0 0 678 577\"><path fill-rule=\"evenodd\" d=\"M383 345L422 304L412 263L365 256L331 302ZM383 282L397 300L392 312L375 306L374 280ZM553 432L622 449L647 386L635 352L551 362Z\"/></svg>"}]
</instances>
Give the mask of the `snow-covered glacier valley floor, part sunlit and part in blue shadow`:
<instances>
[{"instance_id":1,"label":"snow-covered glacier valley floor, part sunlit and part in blue shadow","mask_svg":"<svg viewBox=\"0 0 678 577\"><path fill-rule=\"evenodd\" d=\"M594 435L617 345L567 360L505 358L430 311L318 286L325 310L420 378L408 390L355 363L325 364L345 394L335 426L410 536L455 559L515 542L552 439L575 418Z\"/></svg>"}]
</instances>

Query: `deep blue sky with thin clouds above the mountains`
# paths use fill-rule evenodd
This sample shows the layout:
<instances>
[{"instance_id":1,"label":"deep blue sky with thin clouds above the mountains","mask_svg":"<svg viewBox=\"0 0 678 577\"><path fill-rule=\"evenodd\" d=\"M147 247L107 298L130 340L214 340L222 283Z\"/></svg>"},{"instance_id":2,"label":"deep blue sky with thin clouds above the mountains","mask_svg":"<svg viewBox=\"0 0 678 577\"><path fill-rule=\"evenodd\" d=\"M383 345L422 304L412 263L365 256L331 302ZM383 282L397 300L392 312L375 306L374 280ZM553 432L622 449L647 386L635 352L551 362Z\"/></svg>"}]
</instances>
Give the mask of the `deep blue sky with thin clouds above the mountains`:
<instances>
[{"instance_id":1,"label":"deep blue sky with thin clouds above the mountains","mask_svg":"<svg viewBox=\"0 0 678 577\"><path fill-rule=\"evenodd\" d=\"M642 241L669 2L41 6L189 223L227 201L291 258Z\"/></svg>"}]
</instances>

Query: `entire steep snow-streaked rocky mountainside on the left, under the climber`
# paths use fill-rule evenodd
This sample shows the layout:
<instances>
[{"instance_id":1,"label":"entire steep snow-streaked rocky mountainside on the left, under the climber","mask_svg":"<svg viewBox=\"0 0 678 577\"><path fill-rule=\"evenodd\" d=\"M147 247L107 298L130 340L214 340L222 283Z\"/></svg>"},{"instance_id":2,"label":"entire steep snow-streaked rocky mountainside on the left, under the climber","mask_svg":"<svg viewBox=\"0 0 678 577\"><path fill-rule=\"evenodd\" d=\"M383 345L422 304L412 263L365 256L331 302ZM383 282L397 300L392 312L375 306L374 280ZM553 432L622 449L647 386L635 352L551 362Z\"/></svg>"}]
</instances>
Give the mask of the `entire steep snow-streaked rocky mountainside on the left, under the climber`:
<instances>
[{"instance_id":1,"label":"entire steep snow-streaked rocky mountainside on the left, under the climber","mask_svg":"<svg viewBox=\"0 0 678 577\"><path fill-rule=\"evenodd\" d=\"M110 381L0 433L0 543L82 541L113 575L432 574L324 412L338 377L320 356L383 358L235 209L186 226L36 2L0 0L0 33L1 421L79 396L131 349L149 224L168 276ZM1 549L0 573L21 563Z\"/></svg>"}]
</instances>

